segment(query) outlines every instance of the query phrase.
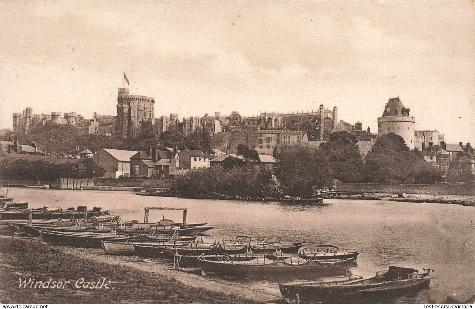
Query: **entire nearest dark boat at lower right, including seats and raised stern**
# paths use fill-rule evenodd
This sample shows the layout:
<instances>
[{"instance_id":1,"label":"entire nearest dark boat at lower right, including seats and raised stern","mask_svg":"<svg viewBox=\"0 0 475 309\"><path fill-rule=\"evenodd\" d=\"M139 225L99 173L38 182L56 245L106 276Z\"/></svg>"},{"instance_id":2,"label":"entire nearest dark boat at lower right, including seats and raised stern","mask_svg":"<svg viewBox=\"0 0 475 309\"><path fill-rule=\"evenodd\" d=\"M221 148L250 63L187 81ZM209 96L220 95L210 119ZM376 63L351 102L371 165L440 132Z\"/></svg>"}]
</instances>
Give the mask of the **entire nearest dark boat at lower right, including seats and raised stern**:
<instances>
[{"instance_id":1,"label":"entire nearest dark boat at lower right, including seats and raised stern","mask_svg":"<svg viewBox=\"0 0 475 309\"><path fill-rule=\"evenodd\" d=\"M307 302L382 302L390 296L417 292L428 287L431 269L424 273L405 267L390 266L388 271L376 273L371 278L349 277L340 281L279 282L280 293L285 299Z\"/></svg>"}]
</instances>

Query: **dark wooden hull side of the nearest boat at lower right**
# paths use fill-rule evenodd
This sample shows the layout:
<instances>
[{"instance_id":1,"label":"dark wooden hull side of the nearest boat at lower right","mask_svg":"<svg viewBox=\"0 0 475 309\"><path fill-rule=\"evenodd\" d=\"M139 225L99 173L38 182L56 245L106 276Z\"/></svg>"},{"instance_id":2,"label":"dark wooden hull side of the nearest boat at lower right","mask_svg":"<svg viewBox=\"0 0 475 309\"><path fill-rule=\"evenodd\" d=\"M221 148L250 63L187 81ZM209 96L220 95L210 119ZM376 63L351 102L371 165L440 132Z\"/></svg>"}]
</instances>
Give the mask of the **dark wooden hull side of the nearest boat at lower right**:
<instances>
[{"instance_id":1,"label":"dark wooden hull side of the nearest boat at lower right","mask_svg":"<svg viewBox=\"0 0 475 309\"><path fill-rule=\"evenodd\" d=\"M404 295L408 292L427 288L429 282L430 278L395 280L381 284L342 286L321 286L318 285L318 282L315 282L315 285L279 282L279 289L281 295L288 300L295 300L295 295L298 294L299 300L306 302L381 302L386 297Z\"/></svg>"}]
</instances>

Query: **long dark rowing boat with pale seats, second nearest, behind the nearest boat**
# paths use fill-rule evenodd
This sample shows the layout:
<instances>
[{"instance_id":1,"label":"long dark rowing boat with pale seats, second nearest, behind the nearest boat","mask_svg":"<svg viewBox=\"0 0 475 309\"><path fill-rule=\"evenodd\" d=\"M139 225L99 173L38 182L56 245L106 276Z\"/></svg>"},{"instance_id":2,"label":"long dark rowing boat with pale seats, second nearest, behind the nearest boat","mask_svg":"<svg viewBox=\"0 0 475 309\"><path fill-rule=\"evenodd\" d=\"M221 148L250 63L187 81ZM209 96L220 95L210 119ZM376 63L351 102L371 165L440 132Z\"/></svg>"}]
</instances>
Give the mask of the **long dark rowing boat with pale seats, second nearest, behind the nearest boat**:
<instances>
[{"instance_id":1,"label":"long dark rowing boat with pale seats, second nearest, behind the nearest boat","mask_svg":"<svg viewBox=\"0 0 475 309\"><path fill-rule=\"evenodd\" d=\"M305 260L297 257L275 261L265 256L257 256L250 261L237 261L231 258L221 261L208 260L200 256L201 269L205 272L218 273L226 276L246 277L248 279L286 279L286 278L315 278L328 274L342 274L353 263L352 259L335 260Z\"/></svg>"}]
</instances>

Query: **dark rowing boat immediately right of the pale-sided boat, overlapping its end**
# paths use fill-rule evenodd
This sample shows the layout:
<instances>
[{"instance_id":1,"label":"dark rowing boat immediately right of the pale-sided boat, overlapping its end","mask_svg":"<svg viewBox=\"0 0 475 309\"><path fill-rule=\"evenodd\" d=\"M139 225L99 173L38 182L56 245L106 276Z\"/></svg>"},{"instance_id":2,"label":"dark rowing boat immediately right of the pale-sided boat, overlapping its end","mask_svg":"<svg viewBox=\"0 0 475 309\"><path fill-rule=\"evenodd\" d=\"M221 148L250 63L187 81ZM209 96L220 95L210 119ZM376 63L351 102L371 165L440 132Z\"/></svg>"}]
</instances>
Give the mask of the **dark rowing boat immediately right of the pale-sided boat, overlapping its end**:
<instances>
[{"instance_id":1,"label":"dark rowing boat immediately right of the pale-sided boat, overlapping its end","mask_svg":"<svg viewBox=\"0 0 475 309\"><path fill-rule=\"evenodd\" d=\"M175 254L199 256L201 254L219 253L218 244L199 245L197 243L192 243L181 247L174 245L133 245L133 247L135 248L137 255L142 259L173 259Z\"/></svg>"}]
</instances>

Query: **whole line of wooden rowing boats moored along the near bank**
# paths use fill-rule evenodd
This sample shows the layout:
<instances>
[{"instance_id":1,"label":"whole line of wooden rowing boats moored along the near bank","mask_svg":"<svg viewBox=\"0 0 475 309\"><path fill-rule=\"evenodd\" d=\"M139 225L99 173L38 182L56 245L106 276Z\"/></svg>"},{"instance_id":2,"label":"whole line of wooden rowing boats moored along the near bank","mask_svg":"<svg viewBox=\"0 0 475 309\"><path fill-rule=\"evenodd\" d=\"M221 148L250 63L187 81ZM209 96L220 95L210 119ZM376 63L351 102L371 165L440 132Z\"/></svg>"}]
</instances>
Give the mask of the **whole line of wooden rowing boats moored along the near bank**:
<instances>
[{"instance_id":1,"label":"whole line of wooden rowing boats moored along the near bank","mask_svg":"<svg viewBox=\"0 0 475 309\"><path fill-rule=\"evenodd\" d=\"M74 211L89 214L85 208ZM207 223L174 223L165 218L155 223L124 222L108 211L99 212L93 209L91 213L97 216L86 215L85 219L71 216L0 223L0 235L20 231L40 236L49 244L102 248L105 254L137 255L150 264L173 263L180 271L274 281L286 300L296 302L361 302L361 297L376 297L380 302L377 297L406 295L427 288L433 271L424 269L419 273L412 268L390 266L383 273L363 278L349 272L359 251L342 252L335 245L307 247L302 242L265 236L235 236L207 243L199 239L213 228ZM318 281L334 276L339 277Z\"/></svg>"}]
</instances>

